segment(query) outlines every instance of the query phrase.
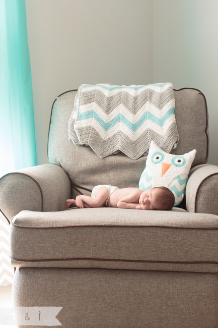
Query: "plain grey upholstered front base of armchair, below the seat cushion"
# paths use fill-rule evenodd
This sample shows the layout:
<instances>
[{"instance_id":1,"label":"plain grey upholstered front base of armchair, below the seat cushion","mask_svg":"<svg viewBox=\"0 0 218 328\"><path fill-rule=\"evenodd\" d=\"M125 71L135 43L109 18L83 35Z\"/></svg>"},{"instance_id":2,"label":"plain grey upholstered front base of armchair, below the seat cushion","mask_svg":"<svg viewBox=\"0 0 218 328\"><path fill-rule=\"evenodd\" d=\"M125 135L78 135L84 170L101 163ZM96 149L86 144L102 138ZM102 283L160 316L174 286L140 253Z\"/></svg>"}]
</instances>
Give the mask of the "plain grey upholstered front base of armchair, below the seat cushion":
<instances>
[{"instance_id":1,"label":"plain grey upholstered front base of armchair, below the seat cushion","mask_svg":"<svg viewBox=\"0 0 218 328\"><path fill-rule=\"evenodd\" d=\"M62 306L66 328L217 328L215 274L26 267L14 284L15 306Z\"/></svg>"}]
</instances>

